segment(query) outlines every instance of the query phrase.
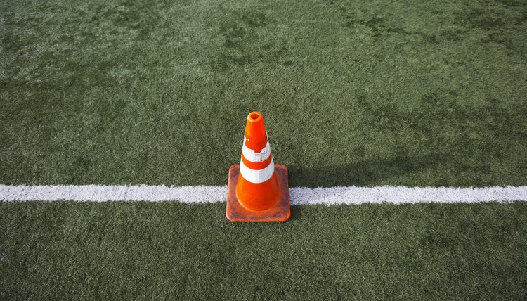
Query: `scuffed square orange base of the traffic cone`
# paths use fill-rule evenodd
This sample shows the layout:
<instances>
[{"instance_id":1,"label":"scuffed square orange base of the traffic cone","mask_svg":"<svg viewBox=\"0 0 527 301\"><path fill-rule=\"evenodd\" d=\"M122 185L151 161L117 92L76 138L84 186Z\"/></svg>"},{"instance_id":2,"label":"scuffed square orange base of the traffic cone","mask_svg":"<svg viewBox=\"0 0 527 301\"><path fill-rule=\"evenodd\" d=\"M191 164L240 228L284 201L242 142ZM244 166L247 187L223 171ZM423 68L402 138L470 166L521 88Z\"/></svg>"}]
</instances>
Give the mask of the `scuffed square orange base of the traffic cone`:
<instances>
[{"instance_id":1,"label":"scuffed square orange base of the traffic cone","mask_svg":"<svg viewBox=\"0 0 527 301\"><path fill-rule=\"evenodd\" d=\"M273 207L263 211L248 210L236 198L236 184L240 176L240 165L233 165L229 169L227 191L227 219L231 222L284 222L291 216L289 207L289 183L287 181L287 167L275 165L275 174L278 179L280 198Z\"/></svg>"}]
</instances>

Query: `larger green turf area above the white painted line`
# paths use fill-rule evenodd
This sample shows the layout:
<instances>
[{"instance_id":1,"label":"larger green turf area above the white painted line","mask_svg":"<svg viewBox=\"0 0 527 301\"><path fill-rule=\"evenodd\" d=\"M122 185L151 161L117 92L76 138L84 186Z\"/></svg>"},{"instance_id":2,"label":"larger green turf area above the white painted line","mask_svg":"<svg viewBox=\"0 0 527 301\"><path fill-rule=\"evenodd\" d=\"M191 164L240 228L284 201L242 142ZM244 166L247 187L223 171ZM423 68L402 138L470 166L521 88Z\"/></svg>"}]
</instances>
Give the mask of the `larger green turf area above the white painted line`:
<instances>
[{"instance_id":1,"label":"larger green turf area above the white painted line","mask_svg":"<svg viewBox=\"0 0 527 301\"><path fill-rule=\"evenodd\" d=\"M527 1L0 1L0 183L527 184Z\"/></svg>"}]
</instances>

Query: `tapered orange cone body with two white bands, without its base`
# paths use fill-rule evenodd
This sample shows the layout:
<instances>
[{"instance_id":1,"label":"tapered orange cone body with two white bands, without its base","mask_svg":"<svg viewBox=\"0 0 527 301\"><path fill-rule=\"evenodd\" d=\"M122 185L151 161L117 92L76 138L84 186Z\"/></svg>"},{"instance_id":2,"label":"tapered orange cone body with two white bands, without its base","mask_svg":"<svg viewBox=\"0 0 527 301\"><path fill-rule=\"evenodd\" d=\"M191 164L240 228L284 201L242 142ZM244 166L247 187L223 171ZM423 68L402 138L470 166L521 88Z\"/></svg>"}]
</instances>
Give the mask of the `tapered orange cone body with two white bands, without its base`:
<instances>
[{"instance_id":1,"label":"tapered orange cone body with two white bands, without its base","mask_svg":"<svg viewBox=\"0 0 527 301\"><path fill-rule=\"evenodd\" d=\"M259 112L249 113L245 125L236 197L247 210L263 211L278 201L279 194L278 179L263 117Z\"/></svg>"}]
</instances>

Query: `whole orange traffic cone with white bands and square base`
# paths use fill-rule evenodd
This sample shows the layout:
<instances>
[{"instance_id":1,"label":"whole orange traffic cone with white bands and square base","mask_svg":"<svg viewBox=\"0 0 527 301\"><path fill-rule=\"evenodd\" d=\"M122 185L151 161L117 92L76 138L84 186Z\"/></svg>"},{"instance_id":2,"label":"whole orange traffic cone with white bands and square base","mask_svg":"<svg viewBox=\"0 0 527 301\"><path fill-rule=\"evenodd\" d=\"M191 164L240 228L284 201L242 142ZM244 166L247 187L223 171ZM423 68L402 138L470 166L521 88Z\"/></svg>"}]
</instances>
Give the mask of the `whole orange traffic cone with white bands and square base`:
<instances>
[{"instance_id":1,"label":"whole orange traffic cone with white bands and square base","mask_svg":"<svg viewBox=\"0 0 527 301\"><path fill-rule=\"evenodd\" d=\"M287 167L273 162L261 113L249 113L242 160L229 169L226 216L233 222L282 222L290 215Z\"/></svg>"}]
</instances>

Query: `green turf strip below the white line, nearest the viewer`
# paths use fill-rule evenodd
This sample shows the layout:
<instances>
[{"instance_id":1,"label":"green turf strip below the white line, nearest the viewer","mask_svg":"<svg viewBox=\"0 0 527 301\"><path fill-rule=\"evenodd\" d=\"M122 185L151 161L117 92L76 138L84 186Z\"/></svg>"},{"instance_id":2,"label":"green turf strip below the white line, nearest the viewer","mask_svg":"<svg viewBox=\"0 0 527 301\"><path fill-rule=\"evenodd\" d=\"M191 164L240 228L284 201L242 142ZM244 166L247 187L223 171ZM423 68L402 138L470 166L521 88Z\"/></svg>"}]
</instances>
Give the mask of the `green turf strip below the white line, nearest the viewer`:
<instances>
[{"instance_id":1,"label":"green turf strip below the white line, nearest the viewer","mask_svg":"<svg viewBox=\"0 0 527 301\"><path fill-rule=\"evenodd\" d=\"M527 203L0 203L0 298L525 300Z\"/></svg>"}]
</instances>

